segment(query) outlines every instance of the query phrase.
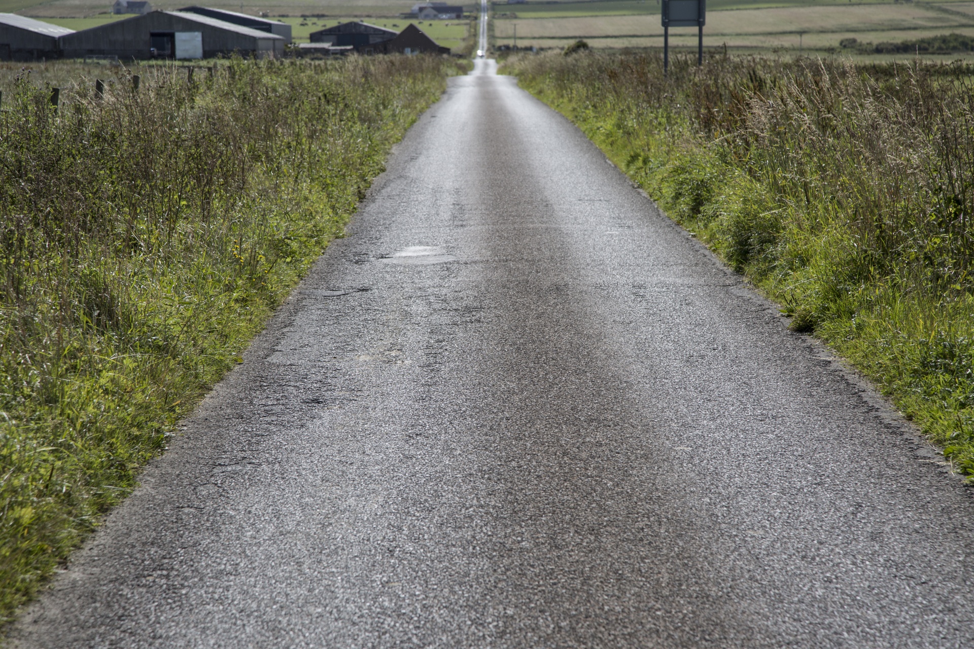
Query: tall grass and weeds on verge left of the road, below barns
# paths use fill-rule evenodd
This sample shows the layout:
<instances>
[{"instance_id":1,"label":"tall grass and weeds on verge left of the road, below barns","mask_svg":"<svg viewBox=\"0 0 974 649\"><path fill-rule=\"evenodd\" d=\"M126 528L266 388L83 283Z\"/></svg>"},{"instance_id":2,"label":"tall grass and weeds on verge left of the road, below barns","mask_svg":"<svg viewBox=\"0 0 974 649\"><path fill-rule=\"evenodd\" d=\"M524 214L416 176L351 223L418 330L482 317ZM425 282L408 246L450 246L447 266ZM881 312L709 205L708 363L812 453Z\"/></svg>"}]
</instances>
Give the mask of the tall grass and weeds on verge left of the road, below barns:
<instances>
[{"instance_id":1,"label":"tall grass and weeds on verge left of the road, below barns","mask_svg":"<svg viewBox=\"0 0 974 649\"><path fill-rule=\"evenodd\" d=\"M140 66L138 90L102 67L101 94L97 66L0 70L0 621L239 361L457 64Z\"/></svg>"}]
</instances>

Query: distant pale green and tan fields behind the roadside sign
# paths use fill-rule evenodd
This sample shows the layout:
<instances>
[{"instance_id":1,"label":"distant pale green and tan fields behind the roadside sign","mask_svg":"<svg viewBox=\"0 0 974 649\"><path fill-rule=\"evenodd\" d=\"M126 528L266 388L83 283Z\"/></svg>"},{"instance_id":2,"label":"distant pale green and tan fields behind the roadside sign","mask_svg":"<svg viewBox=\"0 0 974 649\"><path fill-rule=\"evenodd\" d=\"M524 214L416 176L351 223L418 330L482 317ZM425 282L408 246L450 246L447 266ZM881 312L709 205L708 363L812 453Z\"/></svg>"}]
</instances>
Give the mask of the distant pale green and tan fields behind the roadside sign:
<instances>
[{"instance_id":1,"label":"distant pale green and tan fields behind the roadside sign","mask_svg":"<svg viewBox=\"0 0 974 649\"><path fill-rule=\"evenodd\" d=\"M708 2L704 46L741 50L829 51L843 39L880 43L948 33L974 36L974 3ZM878 5L882 4L881 11ZM600 11L604 7L605 11ZM494 5L494 45L561 48L583 39L597 48L661 47L656 0ZM516 17L516 18L515 18ZM696 30L670 30L676 47Z\"/></svg>"}]
</instances>

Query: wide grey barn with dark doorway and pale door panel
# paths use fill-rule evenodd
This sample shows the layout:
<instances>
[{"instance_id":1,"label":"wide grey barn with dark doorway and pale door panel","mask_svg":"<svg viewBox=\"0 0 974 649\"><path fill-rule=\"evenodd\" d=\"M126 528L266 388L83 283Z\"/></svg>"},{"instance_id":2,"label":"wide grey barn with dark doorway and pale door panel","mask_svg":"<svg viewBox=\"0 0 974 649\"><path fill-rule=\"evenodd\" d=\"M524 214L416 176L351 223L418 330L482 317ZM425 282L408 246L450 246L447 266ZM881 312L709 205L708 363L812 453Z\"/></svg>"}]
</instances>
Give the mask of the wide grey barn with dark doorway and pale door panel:
<instances>
[{"instance_id":1,"label":"wide grey barn with dark doorway and pale door panel","mask_svg":"<svg viewBox=\"0 0 974 649\"><path fill-rule=\"evenodd\" d=\"M284 39L277 34L180 12L150 12L67 34L58 41L61 53L69 57L208 58L238 53L262 58L284 52Z\"/></svg>"}]
</instances>

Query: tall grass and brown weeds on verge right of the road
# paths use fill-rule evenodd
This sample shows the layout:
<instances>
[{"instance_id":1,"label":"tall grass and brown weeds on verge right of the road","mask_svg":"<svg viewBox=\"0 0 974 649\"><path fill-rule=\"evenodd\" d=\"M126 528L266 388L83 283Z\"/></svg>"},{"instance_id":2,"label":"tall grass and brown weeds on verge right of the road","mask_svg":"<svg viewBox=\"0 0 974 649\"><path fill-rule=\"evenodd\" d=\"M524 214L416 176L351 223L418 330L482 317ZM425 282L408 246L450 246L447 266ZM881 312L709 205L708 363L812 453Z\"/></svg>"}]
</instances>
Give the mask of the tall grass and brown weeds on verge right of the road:
<instances>
[{"instance_id":1,"label":"tall grass and brown weeds on verge right of the road","mask_svg":"<svg viewBox=\"0 0 974 649\"><path fill-rule=\"evenodd\" d=\"M577 50L502 72L974 477L974 68L695 62Z\"/></svg>"}]
</instances>

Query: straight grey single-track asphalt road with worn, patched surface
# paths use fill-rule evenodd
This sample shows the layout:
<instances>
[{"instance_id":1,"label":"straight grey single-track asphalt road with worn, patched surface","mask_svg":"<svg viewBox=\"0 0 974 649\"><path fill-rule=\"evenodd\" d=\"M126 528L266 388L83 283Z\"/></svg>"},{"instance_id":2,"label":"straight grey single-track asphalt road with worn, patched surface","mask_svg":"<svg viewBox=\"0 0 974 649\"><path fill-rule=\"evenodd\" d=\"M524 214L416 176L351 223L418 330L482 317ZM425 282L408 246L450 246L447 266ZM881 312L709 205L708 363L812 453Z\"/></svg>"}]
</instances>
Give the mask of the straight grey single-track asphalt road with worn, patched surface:
<instances>
[{"instance_id":1,"label":"straight grey single-track asphalt road with worn, patched surface","mask_svg":"<svg viewBox=\"0 0 974 649\"><path fill-rule=\"evenodd\" d=\"M478 60L19 647L974 647L910 426Z\"/></svg>"}]
</instances>

